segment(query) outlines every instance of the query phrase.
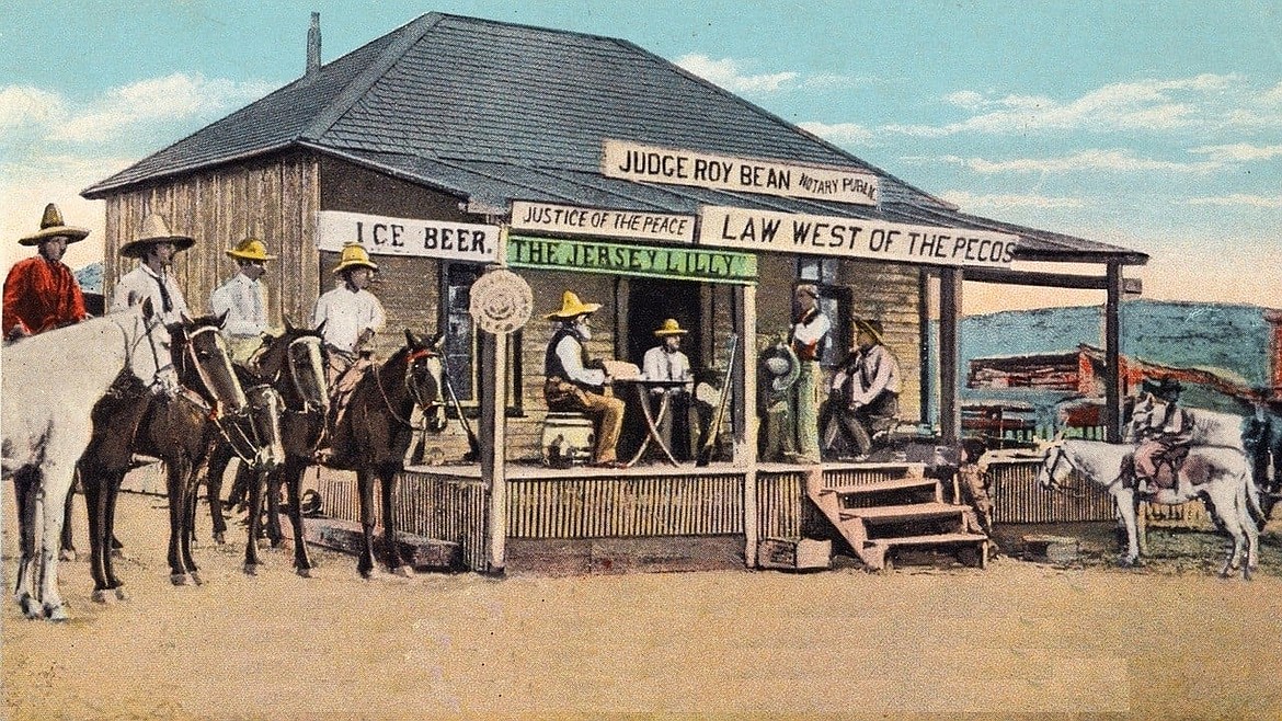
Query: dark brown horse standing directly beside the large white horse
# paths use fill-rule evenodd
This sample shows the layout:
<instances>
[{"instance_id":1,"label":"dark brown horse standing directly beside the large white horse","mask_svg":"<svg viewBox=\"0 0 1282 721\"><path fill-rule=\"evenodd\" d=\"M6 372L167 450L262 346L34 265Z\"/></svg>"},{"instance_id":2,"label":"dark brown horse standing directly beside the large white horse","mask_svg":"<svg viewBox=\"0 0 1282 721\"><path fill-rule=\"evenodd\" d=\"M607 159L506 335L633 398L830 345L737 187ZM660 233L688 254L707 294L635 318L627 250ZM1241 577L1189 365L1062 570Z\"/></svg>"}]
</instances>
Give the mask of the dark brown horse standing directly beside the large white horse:
<instances>
[{"instance_id":1,"label":"dark brown horse standing directly beside the large white horse","mask_svg":"<svg viewBox=\"0 0 1282 721\"><path fill-rule=\"evenodd\" d=\"M169 580L174 585L201 582L188 529L195 518L197 471L215 439L233 439L238 452L259 466L272 467L282 455L274 420L279 398L271 389L242 389L219 334L224 317L185 318L169 327L183 386L172 400L155 400L126 386L92 411L94 443L81 457L79 472L90 517L96 602L110 600L112 593L124 599L110 545L115 499L133 453L154 455L165 464Z\"/></svg>"}]
</instances>

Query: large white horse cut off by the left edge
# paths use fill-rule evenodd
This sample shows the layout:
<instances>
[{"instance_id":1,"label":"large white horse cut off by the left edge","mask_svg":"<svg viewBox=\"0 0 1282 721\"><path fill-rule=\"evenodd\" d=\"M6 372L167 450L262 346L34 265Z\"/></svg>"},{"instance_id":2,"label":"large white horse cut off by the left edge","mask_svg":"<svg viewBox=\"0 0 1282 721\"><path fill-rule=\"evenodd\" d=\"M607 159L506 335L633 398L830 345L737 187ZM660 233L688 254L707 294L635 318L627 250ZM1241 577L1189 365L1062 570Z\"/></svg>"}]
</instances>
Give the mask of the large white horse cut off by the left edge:
<instances>
[{"instance_id":1,"label":"large white horse cut off by the left edge","mask_svg":"<svg viewBox=\"0 0 1282 721\"><path fill-rule=\"evenodd\" d=\"M6 345L0 360L3 470L14 480L22 536L14 598L28 618L64 621L58 547L76 461L92 434L90 409L123 371L172 394L169 332L147 300Z\"/></svg>"}]
</instances>

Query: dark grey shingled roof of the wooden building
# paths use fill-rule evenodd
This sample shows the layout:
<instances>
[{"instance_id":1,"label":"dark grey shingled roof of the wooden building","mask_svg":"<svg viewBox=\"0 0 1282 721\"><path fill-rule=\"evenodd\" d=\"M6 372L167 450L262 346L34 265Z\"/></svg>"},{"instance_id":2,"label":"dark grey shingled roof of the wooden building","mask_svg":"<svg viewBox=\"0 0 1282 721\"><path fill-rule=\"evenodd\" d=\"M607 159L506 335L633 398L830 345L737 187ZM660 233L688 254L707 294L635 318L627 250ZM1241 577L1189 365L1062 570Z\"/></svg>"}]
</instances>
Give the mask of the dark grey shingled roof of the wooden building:
<instances>
[{"instance_id":1,"label":"dark grey shingled roof of the wooden building","mask_svg":"<svg viewBox=\"0 0 1282 721\"><path fill-rule=\"evenodd\" d=\"M604 139L854 168L878 207L636 183L600 174ZM700 204L1014 232L1022 251L1127 263L1147 257L964 216L624 40L431 13L323 65L82 192L308 148L473 207L513 199L695 213Z\"/></svg>"}]
</instances>

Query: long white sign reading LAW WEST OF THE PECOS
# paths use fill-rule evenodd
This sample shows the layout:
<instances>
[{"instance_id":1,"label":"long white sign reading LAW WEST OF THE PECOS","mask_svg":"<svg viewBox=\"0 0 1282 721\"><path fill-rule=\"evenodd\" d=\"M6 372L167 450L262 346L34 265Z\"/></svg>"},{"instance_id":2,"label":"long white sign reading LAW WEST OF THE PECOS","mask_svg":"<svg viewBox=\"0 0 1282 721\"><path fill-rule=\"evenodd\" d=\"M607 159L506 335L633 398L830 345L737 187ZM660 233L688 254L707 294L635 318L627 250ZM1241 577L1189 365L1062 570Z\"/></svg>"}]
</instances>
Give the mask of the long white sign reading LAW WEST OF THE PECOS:
<instances>
[{"instance_id":1,"label":"long white sign reading LAW WEST OF THE PECOS","mask_svg":"<svg viewBox=\"0 0 1282 721\"><path fill-rule=\"evenodd\" d=\"M990 231L797 216L705 205L699 245L900 260L936 266L1008 267L1019 237Z\"/></svg>"}]
</instances>

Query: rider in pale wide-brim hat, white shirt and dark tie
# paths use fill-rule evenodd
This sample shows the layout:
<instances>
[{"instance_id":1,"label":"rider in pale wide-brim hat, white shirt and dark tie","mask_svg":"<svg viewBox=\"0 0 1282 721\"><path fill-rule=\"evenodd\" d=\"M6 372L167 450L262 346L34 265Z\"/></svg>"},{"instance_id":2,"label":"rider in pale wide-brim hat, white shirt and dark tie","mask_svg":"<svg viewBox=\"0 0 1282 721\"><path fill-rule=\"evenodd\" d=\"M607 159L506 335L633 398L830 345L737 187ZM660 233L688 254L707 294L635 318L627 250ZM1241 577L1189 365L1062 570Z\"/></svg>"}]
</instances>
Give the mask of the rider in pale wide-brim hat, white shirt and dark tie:
<instances>
[{"instance_id":1,"label":"rider in pale wide-brim hat, white shirt and dark tie","mask_svg":"<svg viewBox=\"0 0 1282 721\"><path fill-rule=\"evenodd\" d=\"M142 232L121 246L121 255L137 258L138 267L117 281L109 312L118 313L150 298L151 307L160 309L160 318L165 323L177 323L185 316L190 317L187 301L169 272L169 266L178 251L195 244L196 240L190 235L171 232L163 216L153 213L144 218Z\"/></svg>"}]
</instances>

